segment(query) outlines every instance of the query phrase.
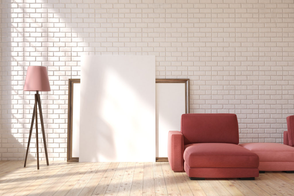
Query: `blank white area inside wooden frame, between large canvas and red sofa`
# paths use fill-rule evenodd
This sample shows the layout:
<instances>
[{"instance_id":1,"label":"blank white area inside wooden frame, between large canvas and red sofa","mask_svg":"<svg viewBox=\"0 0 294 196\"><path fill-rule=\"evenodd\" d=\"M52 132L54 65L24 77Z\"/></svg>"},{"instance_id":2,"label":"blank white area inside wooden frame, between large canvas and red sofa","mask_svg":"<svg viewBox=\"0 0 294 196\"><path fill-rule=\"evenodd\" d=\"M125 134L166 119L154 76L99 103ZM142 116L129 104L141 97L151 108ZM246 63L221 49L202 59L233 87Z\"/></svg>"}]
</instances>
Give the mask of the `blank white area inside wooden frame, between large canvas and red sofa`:
<instances>
[{"instance_id":1,"label":"blank white area inside wooden frame, between large canvas and red sofa","mask_svg":"<svg viewBox=\"0 0 294 196\"><path fill-rule=\"evenodd\" d=\"M156 157L167 157L168 131L181 130L185 83L156 83Z\"/></svg>"}]
</instances>

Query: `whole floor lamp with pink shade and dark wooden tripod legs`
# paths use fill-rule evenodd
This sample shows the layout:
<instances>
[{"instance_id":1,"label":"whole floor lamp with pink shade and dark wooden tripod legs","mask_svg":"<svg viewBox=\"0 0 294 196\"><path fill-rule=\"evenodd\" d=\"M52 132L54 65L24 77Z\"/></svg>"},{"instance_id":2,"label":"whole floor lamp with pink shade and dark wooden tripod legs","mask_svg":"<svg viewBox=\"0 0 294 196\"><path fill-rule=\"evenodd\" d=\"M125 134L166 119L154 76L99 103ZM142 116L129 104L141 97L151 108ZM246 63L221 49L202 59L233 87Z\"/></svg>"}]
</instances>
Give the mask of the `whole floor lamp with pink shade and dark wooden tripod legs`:
<instances>
[{"instance_id":1,"label":"whole floor lamp with pink shade and dark wooden tripod legs","mask_svg":"<svg viewBox=\"0 0 294 196\"><path fill-rule=\"evenodd\" d=\"M37 110L37 106L39 107L41 128L42 128L44 148L45 148L45 154L46 154L46 162L47 162L47 165L49 165L48 153L47 153L47 147L46 147L45 131L44 131L43 114L42 114L41 100L40 100L40 94L39 94L39 91L51 91L46 67L42 67L42 66L29 66L28 67L28 70L26 72L26 81L24 83L24 91L36 91L35 105L34 105L34 110L33 110L33 117L32 117L32 122L31 122L28 147L26 148L26 158L28 157L29 146L30 146L30 142L31 142L31 136L32 136L33 125L34 125L34 119L36 118L37 168L39 170L39 143L38 143L38 118L37 118L38 110ZM24 160L24 167L26 167L26 158Z\"/></svg>"}]
</instances>

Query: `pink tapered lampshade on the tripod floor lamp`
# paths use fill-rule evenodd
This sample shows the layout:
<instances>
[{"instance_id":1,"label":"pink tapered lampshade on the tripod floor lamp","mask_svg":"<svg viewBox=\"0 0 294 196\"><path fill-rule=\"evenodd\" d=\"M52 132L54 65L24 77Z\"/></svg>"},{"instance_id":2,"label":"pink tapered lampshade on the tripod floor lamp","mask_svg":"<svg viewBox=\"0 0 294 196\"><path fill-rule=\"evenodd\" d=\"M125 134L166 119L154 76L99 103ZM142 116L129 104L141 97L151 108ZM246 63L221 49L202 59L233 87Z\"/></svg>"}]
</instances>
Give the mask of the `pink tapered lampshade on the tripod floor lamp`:
<instances>
[{"instance_id":1,"label":"pink tapered lampshade on the tripod floor lamp","mask_svg":"<svg viewBox=\"0 0 294 196\"><path fill-rule=\"evenodd\" d=\"M51 91L46 67L28 67L24 91Z\"/></svg>"}]
</instances>

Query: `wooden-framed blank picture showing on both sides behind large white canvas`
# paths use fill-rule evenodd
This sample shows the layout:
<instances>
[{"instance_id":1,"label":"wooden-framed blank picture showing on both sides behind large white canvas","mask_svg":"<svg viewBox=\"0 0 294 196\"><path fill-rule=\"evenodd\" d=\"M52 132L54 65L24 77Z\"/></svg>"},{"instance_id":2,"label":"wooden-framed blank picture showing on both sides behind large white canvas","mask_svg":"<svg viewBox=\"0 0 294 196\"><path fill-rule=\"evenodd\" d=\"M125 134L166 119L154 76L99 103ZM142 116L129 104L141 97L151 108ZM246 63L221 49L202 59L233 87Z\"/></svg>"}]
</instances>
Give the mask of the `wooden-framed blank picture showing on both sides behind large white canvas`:
<instances>
[{"instance_id":1,"label":"wooden-framed blank picture showing on both sides behind large white canvas","mask_svg":"<svg viewBox=\"0 0 294 196\"><path fill-rule=\"evenodd\" d=\"M69 79L67 161L79 161L80 79ZM189 113L189 80L156 79L156 161L167 161L167 134Z\"/></svg>"}]
</instances>

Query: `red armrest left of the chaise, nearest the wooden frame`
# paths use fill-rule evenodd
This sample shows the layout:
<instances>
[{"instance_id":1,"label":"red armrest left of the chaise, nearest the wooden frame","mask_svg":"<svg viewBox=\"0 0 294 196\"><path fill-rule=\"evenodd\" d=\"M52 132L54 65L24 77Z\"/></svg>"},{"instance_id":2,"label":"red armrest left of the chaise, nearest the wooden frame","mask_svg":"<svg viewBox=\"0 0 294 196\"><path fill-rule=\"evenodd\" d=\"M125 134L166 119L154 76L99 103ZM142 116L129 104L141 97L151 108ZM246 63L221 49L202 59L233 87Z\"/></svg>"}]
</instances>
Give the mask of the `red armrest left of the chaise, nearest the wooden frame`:
<instances>
[{"instance_id":1,"label":"red armrest left of the chaise, nearest the wooden frame","mask_svg":"<svg viewBox=\"0 0 294 196\"><path fill-rule=\"evenodd\" d=\"M184 153L184 137L179 131L168 132L168 162L173 171L182 171L183 153Z\"/></svg>"}]
</instances>

